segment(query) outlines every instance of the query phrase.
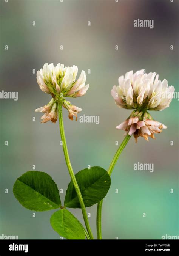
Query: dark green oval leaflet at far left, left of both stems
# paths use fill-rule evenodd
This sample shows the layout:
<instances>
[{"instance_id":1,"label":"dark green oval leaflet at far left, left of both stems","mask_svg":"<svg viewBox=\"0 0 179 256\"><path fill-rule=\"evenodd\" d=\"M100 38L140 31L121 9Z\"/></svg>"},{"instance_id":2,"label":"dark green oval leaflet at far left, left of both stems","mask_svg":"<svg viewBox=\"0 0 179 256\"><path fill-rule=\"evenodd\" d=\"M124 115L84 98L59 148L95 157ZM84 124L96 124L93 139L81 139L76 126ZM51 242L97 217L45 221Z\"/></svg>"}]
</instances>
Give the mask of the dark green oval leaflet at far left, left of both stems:
<instances>
[{"instance_id":1,"label":"dark green oval leaflet at far left, left of both stems","mask_svg":"<svg viewBox=\"0 0 179 256\"><path fill-rule=\"evenodd\" d=\"M59 190L52 178L42 171L28 171L14 184L13 193L22 206L43 212L61 206Z\"/></svg>"}]
</instances>

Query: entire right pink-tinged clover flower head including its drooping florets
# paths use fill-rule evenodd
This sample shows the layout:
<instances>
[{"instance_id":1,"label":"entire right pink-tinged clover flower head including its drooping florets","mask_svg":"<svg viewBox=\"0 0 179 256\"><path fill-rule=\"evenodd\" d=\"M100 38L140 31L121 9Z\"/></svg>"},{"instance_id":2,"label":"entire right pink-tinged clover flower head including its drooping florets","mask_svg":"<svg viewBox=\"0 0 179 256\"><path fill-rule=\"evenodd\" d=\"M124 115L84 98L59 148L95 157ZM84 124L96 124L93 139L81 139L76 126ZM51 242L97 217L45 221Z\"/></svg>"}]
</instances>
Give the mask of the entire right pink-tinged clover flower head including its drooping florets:
<instances>
[{"instance_id":1,"label":"entire right pink-tinged clover flower head including its drooping florets","mask_svg":"<svg viewBox=\"0 0 179 256\"><path fill-rule=\"evenodd\" d=\"M168 86L166 79L161 82L155 72L127 72L125 76L119 77L119 85L113 86L111 95L118 107L134 111L116 128L125 130L130 136L134 135L136 141L139 136L147 141L148 137L155 138L155 133L160 133L167 127L154 121L148 111L164 110L169 107L173 94L174 87Z\"/></svg>"}]
</instances>

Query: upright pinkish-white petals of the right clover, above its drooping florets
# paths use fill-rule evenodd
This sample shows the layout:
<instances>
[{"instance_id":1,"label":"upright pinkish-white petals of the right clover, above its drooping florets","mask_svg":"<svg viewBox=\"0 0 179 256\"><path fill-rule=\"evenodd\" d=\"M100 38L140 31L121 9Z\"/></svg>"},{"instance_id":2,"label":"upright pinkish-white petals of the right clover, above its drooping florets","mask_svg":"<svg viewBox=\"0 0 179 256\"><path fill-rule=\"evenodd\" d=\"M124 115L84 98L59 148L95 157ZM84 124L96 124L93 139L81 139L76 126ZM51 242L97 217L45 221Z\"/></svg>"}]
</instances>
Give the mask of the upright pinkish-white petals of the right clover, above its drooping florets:
<instances>
[{"instance_id":1,"label":"upright pinkish-white petals of the right clover, above its drooping florets","mask_svg":"<svg viewBox=\"0 0 179 256\"><path fill-rule=\"evenodd\" d=\"M169 107L173 94L174 87L168 86L166 79L161 82L156 72L147 74L144 69L120 76L119 85L114 85L111 90L118 107L140 111Z\"/></svg>"}]
</instances>

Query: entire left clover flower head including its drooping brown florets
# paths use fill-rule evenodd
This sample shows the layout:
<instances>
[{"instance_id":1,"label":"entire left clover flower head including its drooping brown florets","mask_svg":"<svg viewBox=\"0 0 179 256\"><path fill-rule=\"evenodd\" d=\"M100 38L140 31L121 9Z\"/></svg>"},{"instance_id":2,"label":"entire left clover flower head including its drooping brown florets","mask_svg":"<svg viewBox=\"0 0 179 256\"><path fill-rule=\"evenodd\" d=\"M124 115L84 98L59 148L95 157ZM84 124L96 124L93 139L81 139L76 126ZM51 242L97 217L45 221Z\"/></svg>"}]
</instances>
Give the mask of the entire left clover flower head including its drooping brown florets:
<instances>
[{"instance_id":1,"label":"entire left clover flower head including its drooping brown florets","mask_svg":"<svg viewBox=\"0 0 179 256\"><path fill-rule=\"evenodd\" d=\"M48 94L51 94L53 104L49 104L44 107L38 108L35 111L44 112L42 116L42 123L46 123L51 120L53 123L57 120L57 104L62 102L69 112L69 118L73 120L73 116L76 116L82 109L70 104L65 100L65 97L81 97L89 88L89 84L85 85L86 74L82 70L79 78L76 80L78 73L78 67L73 65L72 67L64 67L63 64L58 63L54 66L53 63L45 63L43 68L37 71L37 83L40 89ZM56 107L56 108L55 108ZM51 113L52 112L52 113Z\"/></svg>"}]
</instances>

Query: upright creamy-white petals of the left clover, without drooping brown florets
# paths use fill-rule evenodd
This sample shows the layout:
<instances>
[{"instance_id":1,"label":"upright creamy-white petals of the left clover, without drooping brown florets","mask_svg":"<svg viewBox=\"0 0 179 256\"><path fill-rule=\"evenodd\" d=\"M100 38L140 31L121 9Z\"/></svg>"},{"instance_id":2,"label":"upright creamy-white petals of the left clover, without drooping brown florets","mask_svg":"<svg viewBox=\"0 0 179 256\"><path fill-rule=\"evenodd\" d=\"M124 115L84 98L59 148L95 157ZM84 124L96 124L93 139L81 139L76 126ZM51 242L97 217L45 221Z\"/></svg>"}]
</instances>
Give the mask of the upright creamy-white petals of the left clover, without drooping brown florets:
<instances>
[{"instance_id":1,"label":"upright creamy-white petals of the left clover, without drooping brown florets","mask_svg":"<svg viewBox=\"0 0 179 256\"><path fill-rule=\"evenodd\" d=\"M78 67L64 67L63 64L45 63L40 71L37 71L37 83L40 89L45 93L52 95L57 101L62 97L80 97L83 96L89 88L85 85L86 74L82 70L79 78L76 80Z\"/></svg>"}]
</instances>

